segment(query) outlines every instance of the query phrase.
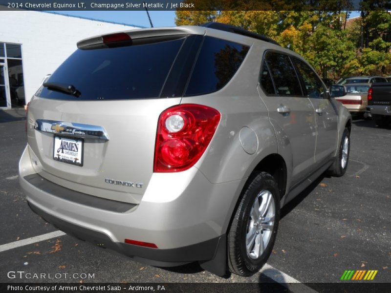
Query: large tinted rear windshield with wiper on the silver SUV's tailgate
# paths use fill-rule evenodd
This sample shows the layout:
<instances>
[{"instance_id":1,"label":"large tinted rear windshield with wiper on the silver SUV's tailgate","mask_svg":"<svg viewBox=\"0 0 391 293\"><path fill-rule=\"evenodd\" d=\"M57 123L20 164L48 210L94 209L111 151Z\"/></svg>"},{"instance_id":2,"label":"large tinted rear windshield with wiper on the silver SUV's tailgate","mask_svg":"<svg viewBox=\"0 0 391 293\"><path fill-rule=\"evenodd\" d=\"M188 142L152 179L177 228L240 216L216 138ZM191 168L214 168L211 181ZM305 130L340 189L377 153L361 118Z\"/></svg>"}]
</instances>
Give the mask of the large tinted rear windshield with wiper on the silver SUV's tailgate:
<instances>
[{"instance_id":1,"label":"large tinted rear windshield with wiper on the silver SUV's tailgate","mask_svg":"<svg viewBox=\"0 0 391 293\"><path fill-rule=\"evenodd\" d=\"M36 95L64 100L121 100L159 97L185 38L116 48L76 50L48 83L73 85L76 98L41 87Z\"/></svg>"}]
</instances>

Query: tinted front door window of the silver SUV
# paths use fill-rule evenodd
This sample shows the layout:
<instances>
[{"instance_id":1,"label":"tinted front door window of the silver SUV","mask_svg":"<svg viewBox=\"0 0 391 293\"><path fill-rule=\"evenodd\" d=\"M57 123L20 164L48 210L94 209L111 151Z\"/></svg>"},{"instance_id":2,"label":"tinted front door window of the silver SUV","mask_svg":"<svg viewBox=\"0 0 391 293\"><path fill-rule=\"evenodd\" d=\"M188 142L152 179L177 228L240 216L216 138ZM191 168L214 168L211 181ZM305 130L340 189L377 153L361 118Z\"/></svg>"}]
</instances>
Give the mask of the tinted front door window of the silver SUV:
<instances>
[{"instance_id":1,"label":"tinted front door window of the silver SUV","mask_svg":"<svg viewBox=\"0 0 391 293\"><path fill-rule=\"evenodd\" d=\"M299 74L303 78L304 94L308 98L323 99L325 96L325 89L320 78L306 63L294 57L292 59Z\"/></svg>"}]
</instances>

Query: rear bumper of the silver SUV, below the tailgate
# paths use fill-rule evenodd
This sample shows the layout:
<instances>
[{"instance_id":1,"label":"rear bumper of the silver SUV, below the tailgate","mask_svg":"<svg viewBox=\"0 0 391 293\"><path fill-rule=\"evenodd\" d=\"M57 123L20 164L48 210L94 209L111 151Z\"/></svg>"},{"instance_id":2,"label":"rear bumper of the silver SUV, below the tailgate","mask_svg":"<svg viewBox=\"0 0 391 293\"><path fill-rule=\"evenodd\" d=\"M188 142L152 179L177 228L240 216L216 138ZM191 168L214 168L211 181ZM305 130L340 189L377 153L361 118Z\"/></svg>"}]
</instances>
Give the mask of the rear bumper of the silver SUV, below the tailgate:
<instances>
[{"instance_id":1,"label":"rear bumper of the silver SUV, below the tailgate","mask_svg":"<svg viewBox=\"0 0 391 293\"><path fill-rule=\"evenodd\" d=\"M220 242L225 241L236 194L245 179L212 184L191 168L182 180L174 178L176 188L165 197L168 191L162 181L152 178L141 202L126 208L129 203L96 202L94 196L41 178L29 151L27 146L19 165L27 201L47 222L67 233L155 266L205 262L215 257L217 247L225 247ZM163 176L167 179L170 174ZM153 243L158 249L126 244L125 239Z\"/></svg>"}]
</instances>

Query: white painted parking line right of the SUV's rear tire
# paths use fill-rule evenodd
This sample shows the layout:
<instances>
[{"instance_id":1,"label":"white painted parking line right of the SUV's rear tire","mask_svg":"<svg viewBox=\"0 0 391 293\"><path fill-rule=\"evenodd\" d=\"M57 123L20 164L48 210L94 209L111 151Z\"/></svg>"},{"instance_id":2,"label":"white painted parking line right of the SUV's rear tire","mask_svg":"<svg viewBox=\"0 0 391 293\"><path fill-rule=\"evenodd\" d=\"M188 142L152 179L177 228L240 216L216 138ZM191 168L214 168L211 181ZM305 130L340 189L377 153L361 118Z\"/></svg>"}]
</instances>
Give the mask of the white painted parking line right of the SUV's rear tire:
<instances>
[{"instance_id":1,"label":"white painted parking line right of the SUV's rear tire","mask_svg":"<svg viewBox=\"0 0 391 293\"><path fill-rule=\"evenodd\" d=\"M292 292L300 292L300 293L317 293L317 291L309 288L308 286L305 286L302 284L299 280L296 280L295 278L291 277L290 275L277 270L276 268L272 267L269 264L265 264L261 271L263 275L267 276L268 278L272 279L273 281L282 284L286 288L288 288ZM290 283L295 283L294 286L290 286Z\"/></svg>"}]
</instances>

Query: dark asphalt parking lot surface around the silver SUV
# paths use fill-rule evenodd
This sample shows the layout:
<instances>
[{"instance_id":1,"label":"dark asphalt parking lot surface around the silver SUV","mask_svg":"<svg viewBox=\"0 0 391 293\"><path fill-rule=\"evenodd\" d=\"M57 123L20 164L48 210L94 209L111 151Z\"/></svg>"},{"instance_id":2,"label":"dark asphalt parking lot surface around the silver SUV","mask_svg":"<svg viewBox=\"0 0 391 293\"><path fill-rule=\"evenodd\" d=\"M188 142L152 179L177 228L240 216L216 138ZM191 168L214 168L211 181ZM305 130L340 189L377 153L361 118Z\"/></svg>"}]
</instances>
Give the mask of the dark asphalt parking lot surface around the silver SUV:
<instances>
[{"instance_id":1,"label":"dark asphalt parking lot surface around the silver SUV","mask_svg":"<svg viewBox=\"0 0 391 293\"><path fill-rule=\"evenodd\" d=\"M24 110L0 110L0 245L56 229L27 206L18 183L18 161L26 145ZM391 281L391 129L353 120L348 171L322 176L282 209L268 264L303 283L339 282L345 270L378 270L375 282ZM79 282L9 279L7 272L90 273L84 282L260 282L221 278L196 264L164 269L99 249L63 235L0 252L0 282ZM278 271L276 271L278 274Z\"/></svg>"}]
</instances>

